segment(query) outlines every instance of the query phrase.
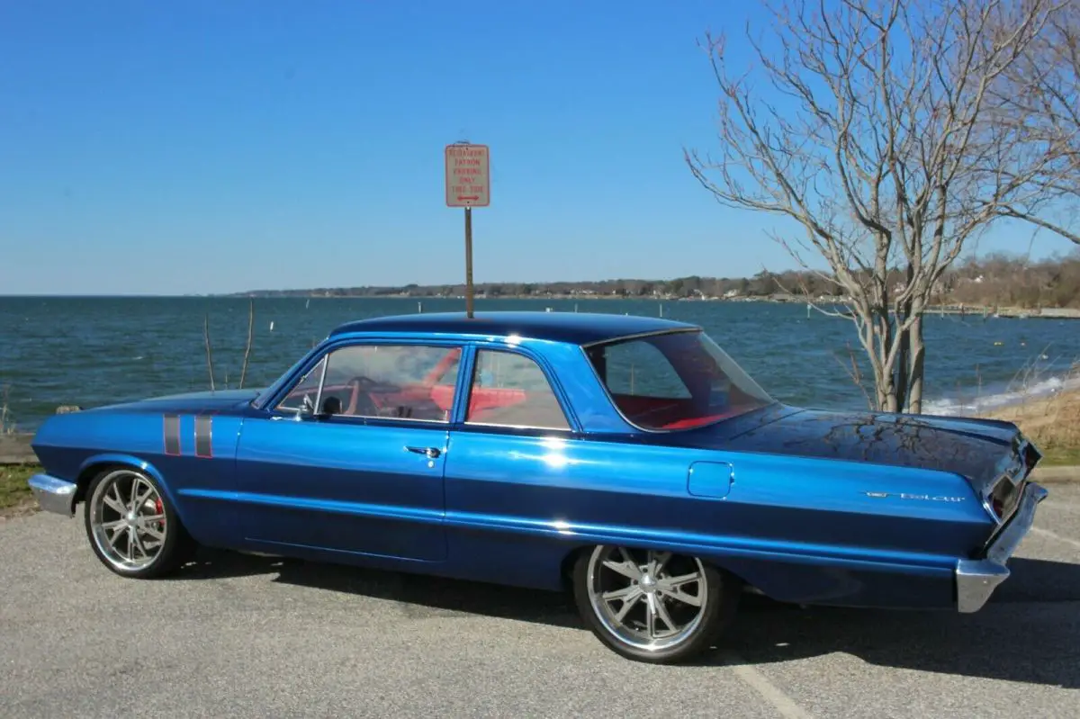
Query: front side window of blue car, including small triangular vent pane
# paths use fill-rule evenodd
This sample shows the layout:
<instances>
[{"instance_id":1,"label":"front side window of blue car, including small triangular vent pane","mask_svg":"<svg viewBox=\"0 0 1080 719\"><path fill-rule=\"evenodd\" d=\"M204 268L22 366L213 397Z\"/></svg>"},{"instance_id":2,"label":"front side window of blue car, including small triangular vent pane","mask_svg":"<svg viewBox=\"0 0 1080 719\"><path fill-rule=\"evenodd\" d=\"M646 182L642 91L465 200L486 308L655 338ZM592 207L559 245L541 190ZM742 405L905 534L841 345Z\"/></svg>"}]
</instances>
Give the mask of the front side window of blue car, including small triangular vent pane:
<instances>
[{"instance_id":1,"label":"front side window of blue car, including small triangular vent pane","mask_svg":"<svg viewBox=\"0 0 1080 719\"><path fill-rule=\"evenodd\" d=\"M314 391L307 389L311 380L306 378L280 407L293 409L302 406L294 396L308 394L313 402L319 394L320 412L324 415L446 422L454 405L460 356L461 348L343 347L330 352L320 365L325 367L326 376L321 393L320 377L314 378Z\"/></svg>"}]
</instances>

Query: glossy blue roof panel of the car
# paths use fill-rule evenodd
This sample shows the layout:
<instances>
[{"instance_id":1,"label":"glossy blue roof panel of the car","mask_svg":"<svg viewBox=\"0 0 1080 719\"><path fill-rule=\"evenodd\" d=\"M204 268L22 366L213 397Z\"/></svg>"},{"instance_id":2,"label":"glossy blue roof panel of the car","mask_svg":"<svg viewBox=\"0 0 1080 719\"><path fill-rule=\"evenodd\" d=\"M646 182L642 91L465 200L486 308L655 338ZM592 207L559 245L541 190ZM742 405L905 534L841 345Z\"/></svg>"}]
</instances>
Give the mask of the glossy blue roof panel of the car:
<instances>
[{"instance_id":1,"label":"glossy blue roof panel of the car","mask_svg":"<svg viewBox=\"0 0 1080 719\"><path fill-rule=\"evenodd\" d=\"M606 340L672 330L700 329L697 325L660 317L593 312L431 312L356 320L339 325L330 337L355 333L419 333L510 337L591 344Z\"/></svg>"}]
</instances>

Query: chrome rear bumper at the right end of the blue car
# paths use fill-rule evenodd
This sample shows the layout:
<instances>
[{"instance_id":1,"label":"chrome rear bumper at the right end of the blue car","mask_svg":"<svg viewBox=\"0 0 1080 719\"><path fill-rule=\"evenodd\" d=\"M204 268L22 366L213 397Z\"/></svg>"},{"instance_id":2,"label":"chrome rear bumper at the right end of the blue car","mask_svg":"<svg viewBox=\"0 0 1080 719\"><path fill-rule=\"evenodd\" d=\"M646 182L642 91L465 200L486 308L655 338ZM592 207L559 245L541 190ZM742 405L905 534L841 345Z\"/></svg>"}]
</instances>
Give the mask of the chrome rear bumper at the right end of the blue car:
<instances>
[{"instance_id":1,"label":"chrome rear bumper at the right end of the blue car","mask_svg":"<svg viewBox=\"0 0 1080 719\"><path fill-rule=\"evenodd\" d=\"M1035 483L1024 488L1020 506L1009 523L983 553L982 559L960 559L956 564L957 611L977 612L998 585L1009 579L1005 566L1035 523L1035 508L1047 499L1047 490Z\"/></svg>"}]
</instances>

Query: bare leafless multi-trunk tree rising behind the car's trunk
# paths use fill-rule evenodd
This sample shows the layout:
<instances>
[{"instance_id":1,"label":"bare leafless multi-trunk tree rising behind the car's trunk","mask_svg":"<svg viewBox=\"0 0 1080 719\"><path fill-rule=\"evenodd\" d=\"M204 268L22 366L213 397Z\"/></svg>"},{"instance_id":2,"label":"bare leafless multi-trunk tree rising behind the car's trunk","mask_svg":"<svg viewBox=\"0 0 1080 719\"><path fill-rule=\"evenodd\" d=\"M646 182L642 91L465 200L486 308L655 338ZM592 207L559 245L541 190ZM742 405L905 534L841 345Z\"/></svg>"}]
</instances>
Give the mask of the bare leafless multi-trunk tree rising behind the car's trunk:
<instances>
[{"instance_id":1,"label":"bare leafless multi-trunk tree rising behind the car's trunk","mask_svg":"<svg viewBox=\"0 0 1080 719\"><path fill-rule=\"evenodd\" d=\"M991 90L1059 4L780 2L751 38L754 70L732 72L725 39L706 38L720 149L686 160L721 204L786 219L773 238L806 269L823 259L848 298L878 408L920 412L922 315L943 273L1059 179L1022 122L991 121Z\"/></svg>"}]
</instances>

